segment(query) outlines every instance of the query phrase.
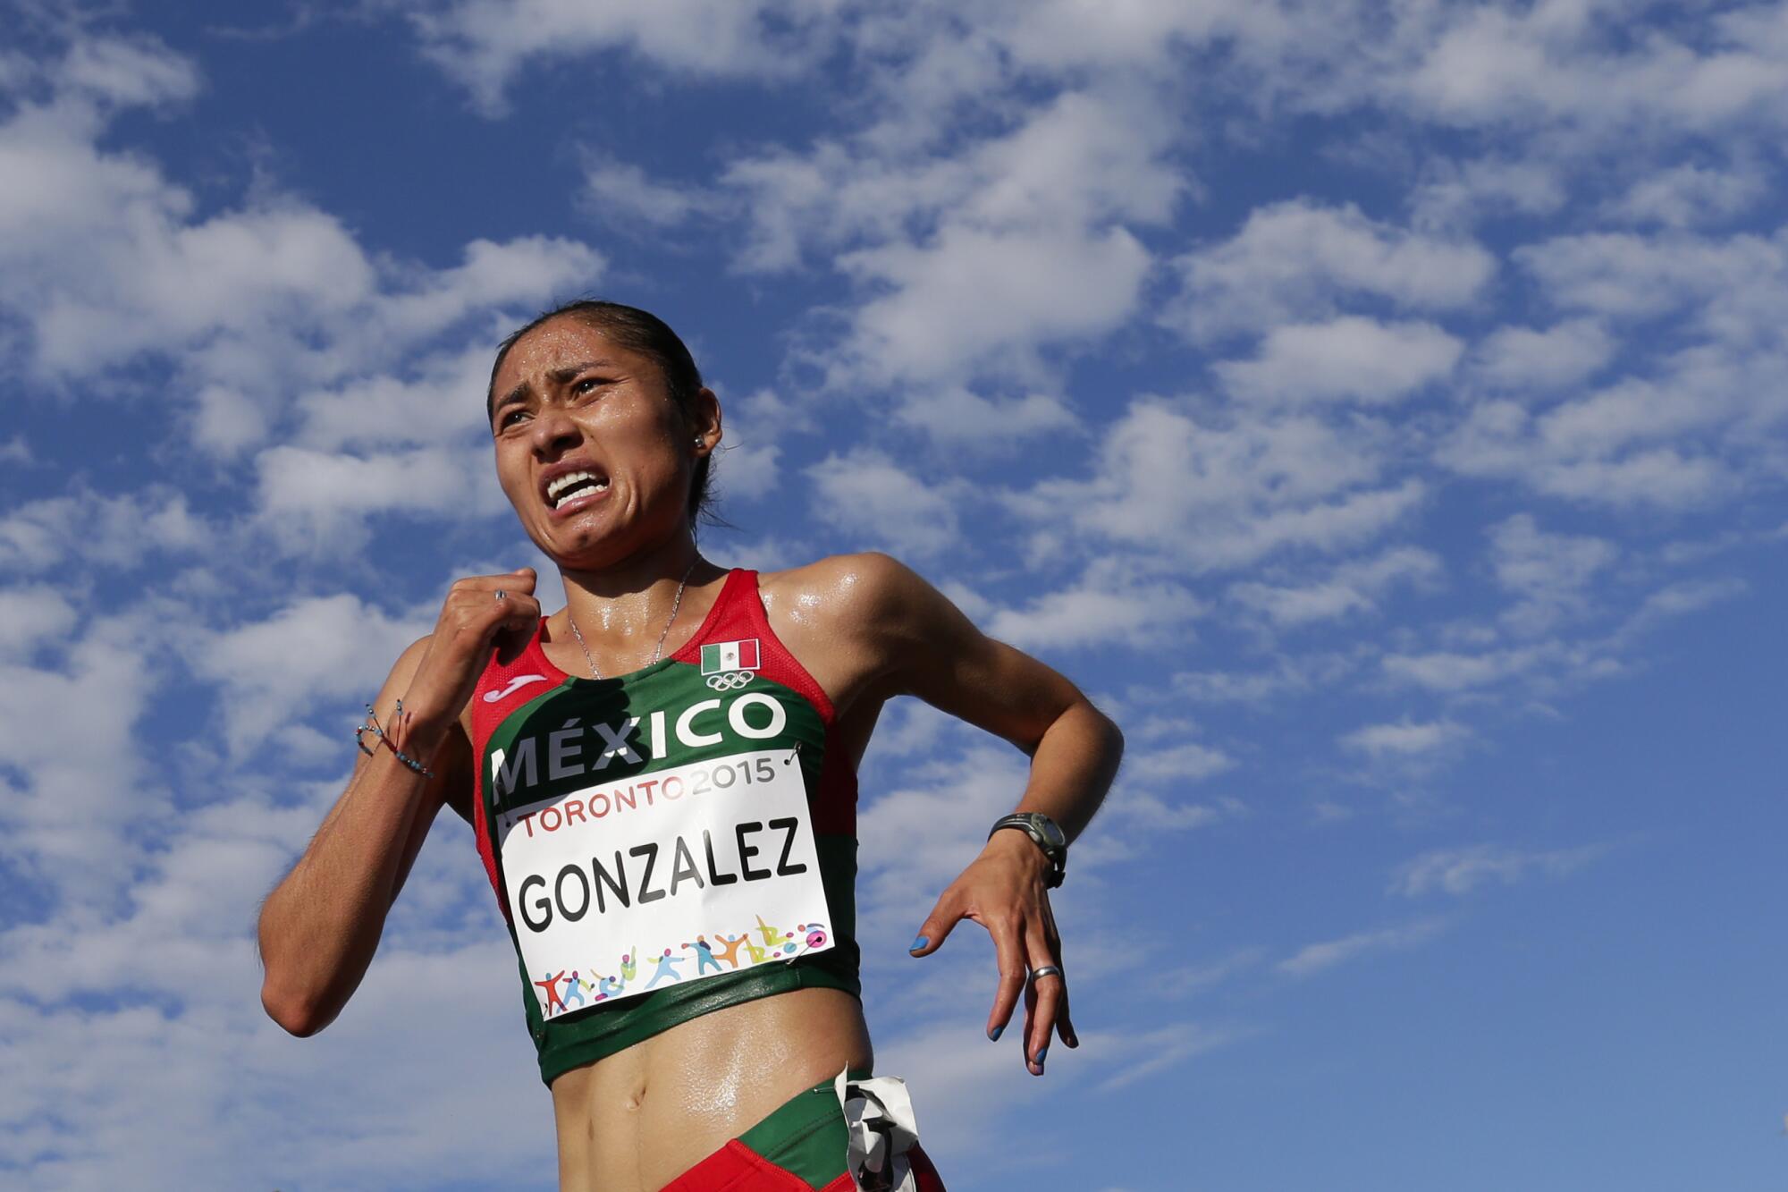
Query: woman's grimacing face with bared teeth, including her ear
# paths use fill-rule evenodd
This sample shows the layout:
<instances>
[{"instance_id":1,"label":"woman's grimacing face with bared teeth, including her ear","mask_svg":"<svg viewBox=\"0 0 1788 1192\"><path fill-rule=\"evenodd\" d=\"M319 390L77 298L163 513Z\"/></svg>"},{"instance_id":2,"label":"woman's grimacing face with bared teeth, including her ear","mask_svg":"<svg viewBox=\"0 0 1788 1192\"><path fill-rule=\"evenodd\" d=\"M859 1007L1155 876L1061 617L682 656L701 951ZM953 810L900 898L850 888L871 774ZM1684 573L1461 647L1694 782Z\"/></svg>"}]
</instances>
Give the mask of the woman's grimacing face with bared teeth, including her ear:
<instances>
[{"instance_id":1,"label":"woman's grimacing face with bared teeth, including her ear","mask_svg":"<svg viewBox=\"0 0 1788 1192\"><path fill-rule=\"evenodd\" d=\"M696 462L719 438L713 394L690 426L656 360L572 317L522 336L492 392L497 478L549 558L599 567L683 530Z\"/></svg>"}]
</instances>

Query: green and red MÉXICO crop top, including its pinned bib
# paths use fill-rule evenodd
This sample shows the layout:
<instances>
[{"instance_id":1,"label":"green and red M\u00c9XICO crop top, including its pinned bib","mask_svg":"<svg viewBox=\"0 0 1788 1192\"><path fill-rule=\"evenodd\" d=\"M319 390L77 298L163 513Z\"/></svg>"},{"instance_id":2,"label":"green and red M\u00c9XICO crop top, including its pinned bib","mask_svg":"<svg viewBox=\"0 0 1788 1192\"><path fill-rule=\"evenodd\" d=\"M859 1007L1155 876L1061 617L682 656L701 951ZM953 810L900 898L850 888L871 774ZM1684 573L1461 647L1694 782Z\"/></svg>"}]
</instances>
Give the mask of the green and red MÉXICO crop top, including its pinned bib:
<instances>
[{"instance_id":1,"label":"green and red M\u00c9XICO crop top, including its pinned bib","mask_svg":"<svg viewBox=\"0 0 1788 1192\"><path fill-rule=\"evenodd\" d=\"M477 680L472 823L549 1086L724 1006L862 995L856 773L756 580L629 675L558 669L542 619Z\"/></svg>"}]
</instances>

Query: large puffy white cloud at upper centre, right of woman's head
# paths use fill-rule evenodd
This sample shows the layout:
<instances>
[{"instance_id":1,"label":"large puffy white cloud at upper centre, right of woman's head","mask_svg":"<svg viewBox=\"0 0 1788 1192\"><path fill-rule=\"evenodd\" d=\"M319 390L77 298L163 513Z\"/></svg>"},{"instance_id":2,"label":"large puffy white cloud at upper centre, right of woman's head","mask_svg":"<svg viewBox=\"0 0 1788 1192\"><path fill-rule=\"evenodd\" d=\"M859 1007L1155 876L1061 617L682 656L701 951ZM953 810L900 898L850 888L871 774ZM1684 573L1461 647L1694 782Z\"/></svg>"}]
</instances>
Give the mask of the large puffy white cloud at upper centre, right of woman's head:
<instances>
[{"instance_id":1,"label":"large puffy white cloud at upper centre, right of woman's head","mask_svg":"<svg viewBox=\"0 0 1788 1192\"><path fill-rule=\"evenodd\" d=\"M1185 183L1144 98L1064 93L953 156L824 141L735 161L751 199L746 268L812 249L856 283L846 335L812 356L835 387L1017 370L1096 340L1135 308L1151 256L1130 224Z\"/></svg>"}]
</instances>

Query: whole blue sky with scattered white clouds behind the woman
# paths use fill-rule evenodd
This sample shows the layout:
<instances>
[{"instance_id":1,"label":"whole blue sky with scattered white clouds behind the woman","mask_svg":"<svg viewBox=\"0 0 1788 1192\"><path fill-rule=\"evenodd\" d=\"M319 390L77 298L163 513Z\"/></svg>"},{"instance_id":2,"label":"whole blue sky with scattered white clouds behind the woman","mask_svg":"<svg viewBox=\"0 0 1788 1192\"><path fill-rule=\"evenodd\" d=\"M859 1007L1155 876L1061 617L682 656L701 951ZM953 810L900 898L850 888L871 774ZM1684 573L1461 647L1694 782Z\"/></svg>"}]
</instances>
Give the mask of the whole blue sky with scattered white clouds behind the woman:
<instances>
[{"instance_id":1,"label":"whole blue sky with scattered white clouds behind the woman","mask_svg":"<svg viewBox=\"0 0 1788 1192\"><path fill-rule=\"evenodd\" d=\"M0 13L0 1181L552 1185L463 825L313 1040L252 925L540 562L483 374L590 292L722 399L710 557L885 549L1126 730L1042 1079L978 927L903 952L1023 757L864 762L951 1188L1781 1183L1788 7L70 7Z\"/></svg>"}]
</instances>

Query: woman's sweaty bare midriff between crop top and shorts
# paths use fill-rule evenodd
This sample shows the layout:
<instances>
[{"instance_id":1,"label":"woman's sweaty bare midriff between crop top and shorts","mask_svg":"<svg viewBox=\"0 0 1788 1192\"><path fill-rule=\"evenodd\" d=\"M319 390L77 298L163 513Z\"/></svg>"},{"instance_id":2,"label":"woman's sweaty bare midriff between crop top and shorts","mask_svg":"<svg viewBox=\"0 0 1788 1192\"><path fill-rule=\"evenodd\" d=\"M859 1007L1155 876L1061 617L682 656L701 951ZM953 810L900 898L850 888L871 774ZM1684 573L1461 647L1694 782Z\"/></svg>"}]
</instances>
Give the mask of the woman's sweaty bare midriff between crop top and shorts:
<instances>
[{"instance_id":1,"label":"woman's sweaty bare midriff between crop top and shorts","mask_svg":"<svg viewBox=\"0 0 1788 1192\"><path fill-rule=\"evenodd\" d=\"M690 1018L552 1081L561 1192L658 1192L789 1097L869 1069L864 1008L790 990Z\"/></svg>"}]
</instances>

